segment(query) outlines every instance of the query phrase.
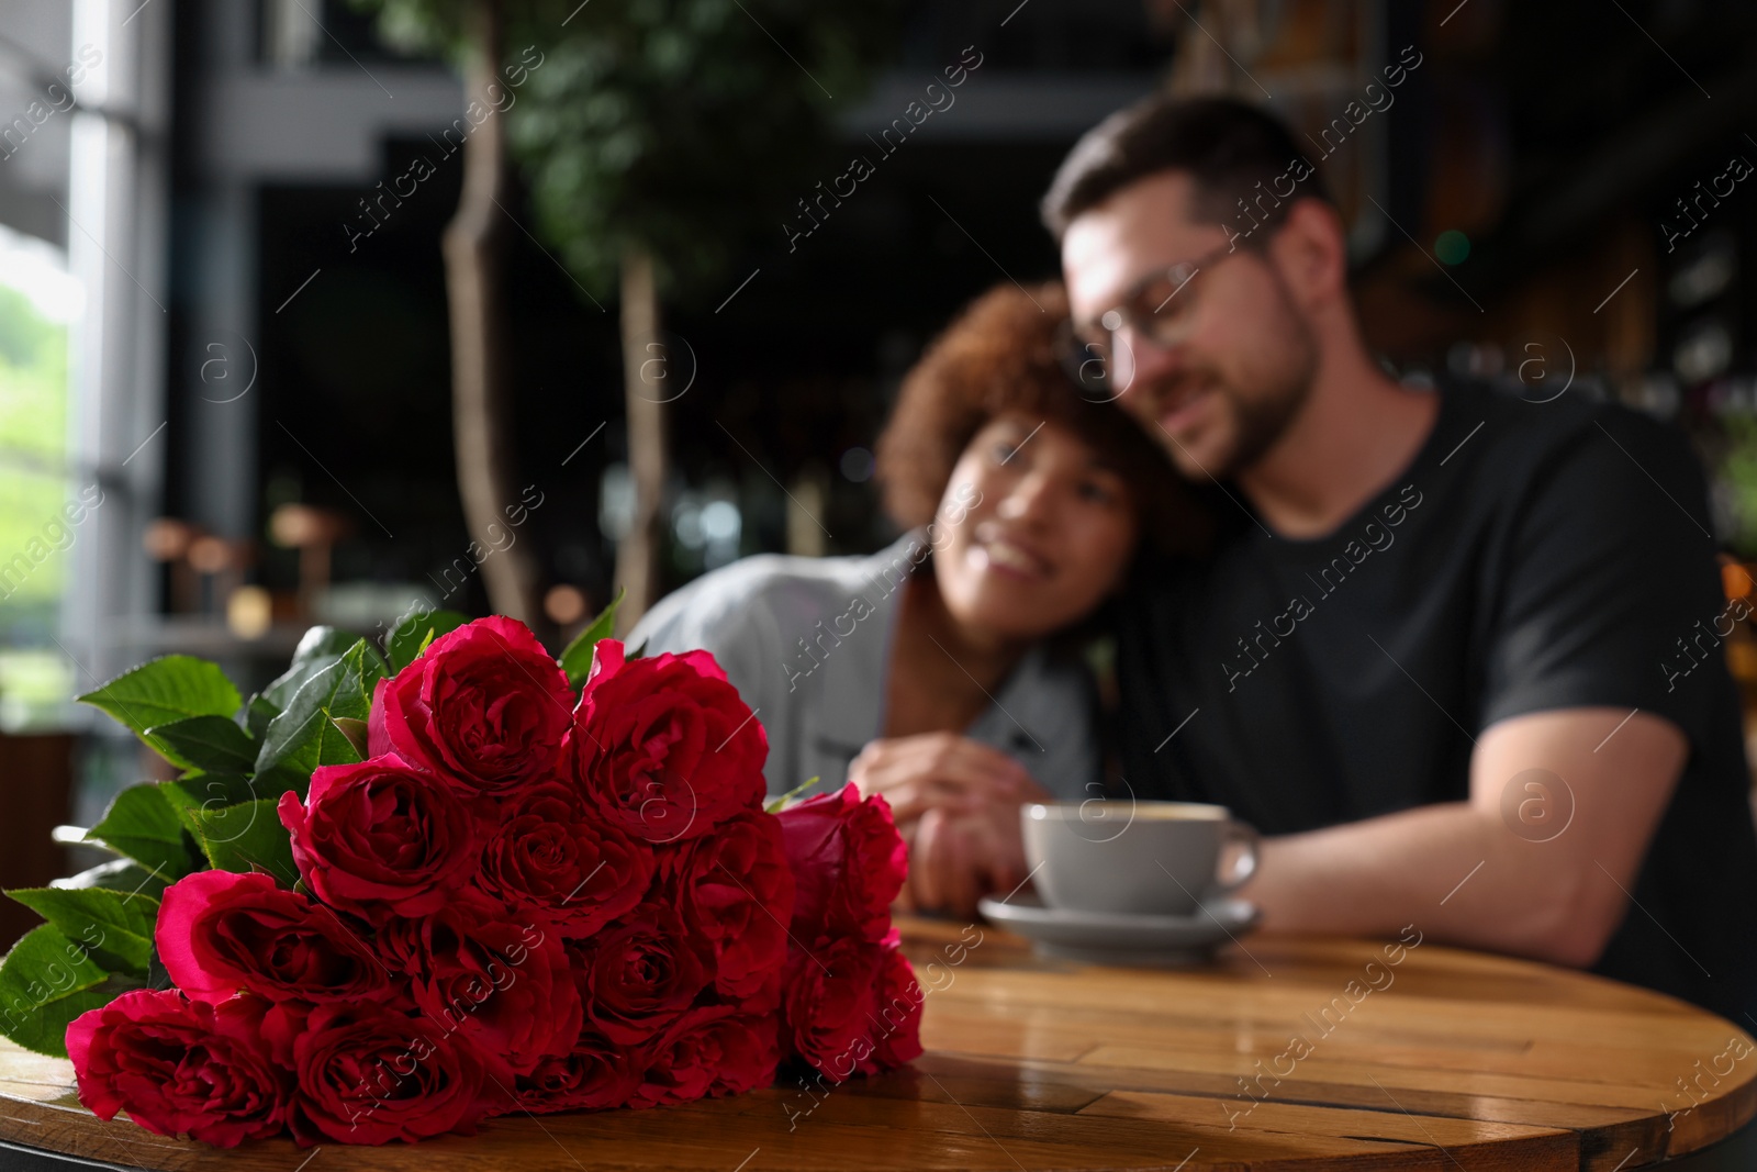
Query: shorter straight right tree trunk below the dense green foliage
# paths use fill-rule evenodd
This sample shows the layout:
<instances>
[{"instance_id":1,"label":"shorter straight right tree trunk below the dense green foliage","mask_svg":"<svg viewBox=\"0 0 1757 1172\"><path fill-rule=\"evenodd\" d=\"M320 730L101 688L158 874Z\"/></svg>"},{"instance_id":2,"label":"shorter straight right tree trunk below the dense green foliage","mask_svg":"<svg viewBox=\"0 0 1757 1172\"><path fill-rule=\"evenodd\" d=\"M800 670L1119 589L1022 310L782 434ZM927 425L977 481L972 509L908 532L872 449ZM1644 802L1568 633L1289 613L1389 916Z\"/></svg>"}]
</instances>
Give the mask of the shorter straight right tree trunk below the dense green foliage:
<instances>
[{"instance_id":1,"label":"shorter straight right tree trunk below the dense green foliage","mask_svg":"<svg viewBox=\"0 0 1757 1172\"><path fill-rule=\"evenodd\" d=\"M643 378L659 339L659 293L654 288L652 253L629 246L622 255L622 394L627 404L629 480L634 485L634 524L617 546L617 582L627 590L617 611L617 627L627 633L647 608L659 601L659 552L666 539L664 480L664 394Z\"/></svg>"}]
</instances>

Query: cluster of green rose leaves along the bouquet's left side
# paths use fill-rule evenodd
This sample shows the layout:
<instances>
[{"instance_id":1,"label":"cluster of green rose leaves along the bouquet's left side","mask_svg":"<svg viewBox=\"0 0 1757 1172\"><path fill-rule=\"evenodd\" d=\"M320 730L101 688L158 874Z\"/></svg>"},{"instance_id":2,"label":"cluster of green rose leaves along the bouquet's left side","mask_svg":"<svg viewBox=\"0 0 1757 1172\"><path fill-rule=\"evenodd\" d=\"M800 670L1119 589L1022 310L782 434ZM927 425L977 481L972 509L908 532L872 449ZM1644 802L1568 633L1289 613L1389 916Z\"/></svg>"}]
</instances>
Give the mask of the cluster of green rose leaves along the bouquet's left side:
<instances>
[{"instance_id":1,"label":"cluster of green rose leaves along the bouquet's left side","mask_svg":"<svg viewBox=\"0 0 1757 1172\"><path fill-rule=\"evenodd\" d=\"M184 766L116 794L86 842L123 857L47 887L9 891L47 922L0 963L0 1033L65 1058L67 1024L165 977L155 954L165 887L204 868L295 886L279 819L320 764L360 761L387 664L365 640L315 627L281 678L244 705L216 664L165 655L83 696Z\"/></svg>"}]
</instances>

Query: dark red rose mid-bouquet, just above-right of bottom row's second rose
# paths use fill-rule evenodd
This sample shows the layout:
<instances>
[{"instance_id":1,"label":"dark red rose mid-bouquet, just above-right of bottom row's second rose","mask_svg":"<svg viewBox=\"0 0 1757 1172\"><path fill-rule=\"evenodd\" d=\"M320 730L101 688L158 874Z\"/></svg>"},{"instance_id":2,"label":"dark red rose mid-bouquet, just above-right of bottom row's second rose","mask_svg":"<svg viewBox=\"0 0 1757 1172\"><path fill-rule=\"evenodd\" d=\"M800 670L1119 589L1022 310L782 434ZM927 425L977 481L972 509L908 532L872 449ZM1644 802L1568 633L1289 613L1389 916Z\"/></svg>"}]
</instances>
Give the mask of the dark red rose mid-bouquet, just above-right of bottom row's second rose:
<instances>
[{"instance_id":1,"label":"dark red rose mid-bouquet, just above-right of bottom row's second rose","mask_svg":"<svg viewBox=\"0 0 1757 1172\"><path fill-rule=\"evenodd\" d=\"M420 1012L467 1040L492 1077L510 1081L578 1038L580 991L560 937L513 922L480 896L380 935L415 977Z\"/></svg>"}]
</instances>

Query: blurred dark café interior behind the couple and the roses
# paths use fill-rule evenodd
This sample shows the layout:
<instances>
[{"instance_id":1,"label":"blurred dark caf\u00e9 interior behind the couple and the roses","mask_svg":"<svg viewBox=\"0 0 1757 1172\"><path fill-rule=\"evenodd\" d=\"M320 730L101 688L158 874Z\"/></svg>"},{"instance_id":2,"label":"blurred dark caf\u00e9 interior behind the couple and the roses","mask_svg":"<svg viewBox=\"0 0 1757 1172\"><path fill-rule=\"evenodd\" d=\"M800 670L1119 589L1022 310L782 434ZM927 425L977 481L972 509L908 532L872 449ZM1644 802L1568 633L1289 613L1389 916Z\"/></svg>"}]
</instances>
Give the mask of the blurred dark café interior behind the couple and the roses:
<instances>
[{"instance_id":1,"label":"blurred dark caf\u00e9 interior behind the couple and the roses","mask_svg":"<svg viewBox=\"0 0 1757 1172\"><path fill-rule=\"evenodd\" d=\"M901 374L1154 90L1305 134L1406 378L1687 429L1750 590L1752 5L828 7L0 0L0 886L151 768L70 699L144 657L877 548Z\"/></svg>"}]
</instances>

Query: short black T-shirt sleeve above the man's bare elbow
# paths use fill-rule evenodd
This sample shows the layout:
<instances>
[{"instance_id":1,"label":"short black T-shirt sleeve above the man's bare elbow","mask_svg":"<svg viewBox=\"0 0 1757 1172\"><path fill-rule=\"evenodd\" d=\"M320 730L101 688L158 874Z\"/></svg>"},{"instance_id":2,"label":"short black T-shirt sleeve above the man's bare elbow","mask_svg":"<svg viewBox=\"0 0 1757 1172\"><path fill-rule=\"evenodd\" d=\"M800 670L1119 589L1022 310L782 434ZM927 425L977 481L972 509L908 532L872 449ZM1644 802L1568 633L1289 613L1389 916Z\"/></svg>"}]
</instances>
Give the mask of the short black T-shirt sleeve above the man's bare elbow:
<instances>
[{"instance_id":1,"label":"short black T-shirt sleeve above the man's bare elbow","mask_svg":"<svg viewBox=\"0 0 1757 1172\"><path fill-rule=\"evenodd\" d=\"M1488 559L1481 583L1499 594L1481 726L1553 708L1641 708L1701 743L1703 705L1669 668L1694 662L1678 640L1711 631L1725 599L1703 469L1683 436L1601 411L1515 508L1504 561ZM1711 659L1699 669L1724 668Z\"/></svg>"}]
</instances>

